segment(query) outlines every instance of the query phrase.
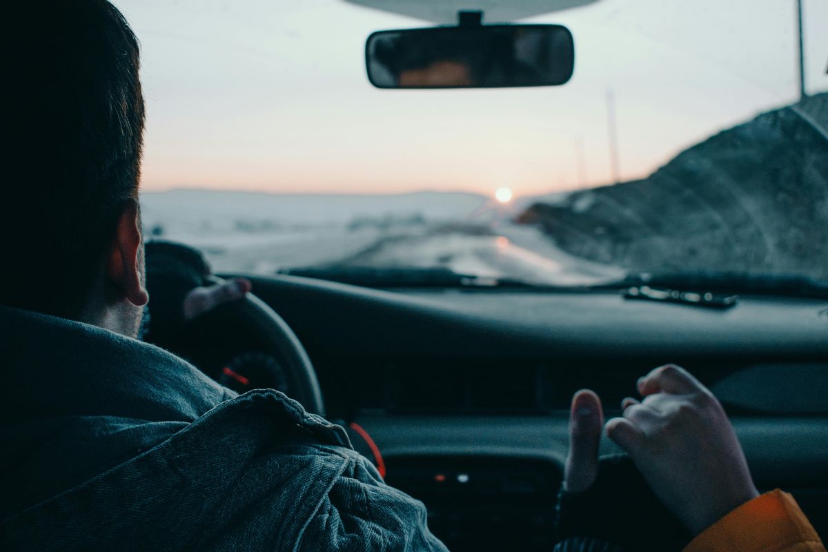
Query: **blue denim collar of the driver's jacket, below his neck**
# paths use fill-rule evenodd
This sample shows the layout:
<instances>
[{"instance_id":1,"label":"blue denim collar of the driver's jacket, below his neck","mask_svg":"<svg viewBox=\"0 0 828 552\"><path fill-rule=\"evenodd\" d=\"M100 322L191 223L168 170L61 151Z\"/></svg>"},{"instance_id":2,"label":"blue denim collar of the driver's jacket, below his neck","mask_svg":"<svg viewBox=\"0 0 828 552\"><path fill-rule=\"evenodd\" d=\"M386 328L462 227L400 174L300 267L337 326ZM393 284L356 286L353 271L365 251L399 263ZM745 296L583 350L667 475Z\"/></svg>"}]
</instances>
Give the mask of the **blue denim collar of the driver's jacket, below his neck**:
<instances>
[{"instance_id":1,"label":"blue denim collar of the driver's jacket, below his neck","mask_svg":"<svg viewBox=\"0 0 828 552\"><path fill-rule=\"evenodd\" d=\"M235 396L161 348L89 324L0 306L7 424L60 415L193 421Z\"/></svg>"}]
</instances>

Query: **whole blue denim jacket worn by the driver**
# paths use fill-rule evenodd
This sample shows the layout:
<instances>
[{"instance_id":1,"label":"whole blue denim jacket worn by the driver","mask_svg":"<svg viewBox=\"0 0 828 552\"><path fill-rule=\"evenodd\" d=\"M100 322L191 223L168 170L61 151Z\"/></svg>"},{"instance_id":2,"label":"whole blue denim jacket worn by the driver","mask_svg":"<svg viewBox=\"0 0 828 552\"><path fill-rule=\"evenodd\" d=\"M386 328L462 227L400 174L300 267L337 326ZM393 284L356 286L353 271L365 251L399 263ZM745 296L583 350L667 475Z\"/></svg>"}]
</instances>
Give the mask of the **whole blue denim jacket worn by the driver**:
<instances>
[{"instance_id":1,"label":"whole blue denim jacket worn by the driver","mask_svg":"<svg viewBox=\"0 0 828 552\"><path fill-rule=\"evenodd\" d=\"M0 550L445 550L421 502L278 391L0 307Z\"/></svg>"}]
</instances>

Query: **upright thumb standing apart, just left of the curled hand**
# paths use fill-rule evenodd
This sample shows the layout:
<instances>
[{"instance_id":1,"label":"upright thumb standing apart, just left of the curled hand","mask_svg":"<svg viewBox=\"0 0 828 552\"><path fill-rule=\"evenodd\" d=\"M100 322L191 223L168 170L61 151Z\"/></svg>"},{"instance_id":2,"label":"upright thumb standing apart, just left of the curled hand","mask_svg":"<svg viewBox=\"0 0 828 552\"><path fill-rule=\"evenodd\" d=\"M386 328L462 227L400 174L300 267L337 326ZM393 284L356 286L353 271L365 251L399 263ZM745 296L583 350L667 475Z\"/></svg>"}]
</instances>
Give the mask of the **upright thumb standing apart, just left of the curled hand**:
<instances>
[{"instance_id":1,"label":"upright thumb standing apart, just left of the curled hand","mask_svg":"<svg viewBox=\"0 0 828 552\"><path fill-rule=\"evenodd\" d=\"M604 413L595 392L582 390L572 397L570 408L570 448L564 470L567 492L583 492L598 477L598 447Z\"/></svg>"}]
</instances>

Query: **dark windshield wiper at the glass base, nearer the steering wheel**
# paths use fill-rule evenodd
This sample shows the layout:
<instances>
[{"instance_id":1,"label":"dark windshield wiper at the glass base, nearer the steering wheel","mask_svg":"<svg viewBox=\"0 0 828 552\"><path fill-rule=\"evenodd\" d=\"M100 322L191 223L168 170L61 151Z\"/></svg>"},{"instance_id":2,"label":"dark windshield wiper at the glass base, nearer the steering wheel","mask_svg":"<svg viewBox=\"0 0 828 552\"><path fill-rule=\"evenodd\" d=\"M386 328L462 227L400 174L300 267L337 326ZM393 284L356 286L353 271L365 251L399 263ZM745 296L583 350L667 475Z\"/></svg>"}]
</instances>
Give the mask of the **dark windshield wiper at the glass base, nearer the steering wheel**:
<instances>
[{"instance_id":1,"label":"dark windshield wiper at the glass base, nearer the steering wheel","mask_svg":"<svg viewBox=\"0 0 828 552\"><path fill-rule=\"evenodd\" d=\"M527 282L508 278L460 274L443 266L429 268L410 266L302 266L277 272L288 276L304 276L318 280L364 287L531 287Z\"/></svg>"}]
</instances>

